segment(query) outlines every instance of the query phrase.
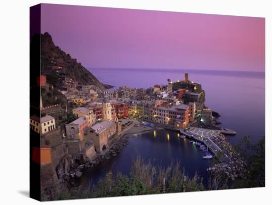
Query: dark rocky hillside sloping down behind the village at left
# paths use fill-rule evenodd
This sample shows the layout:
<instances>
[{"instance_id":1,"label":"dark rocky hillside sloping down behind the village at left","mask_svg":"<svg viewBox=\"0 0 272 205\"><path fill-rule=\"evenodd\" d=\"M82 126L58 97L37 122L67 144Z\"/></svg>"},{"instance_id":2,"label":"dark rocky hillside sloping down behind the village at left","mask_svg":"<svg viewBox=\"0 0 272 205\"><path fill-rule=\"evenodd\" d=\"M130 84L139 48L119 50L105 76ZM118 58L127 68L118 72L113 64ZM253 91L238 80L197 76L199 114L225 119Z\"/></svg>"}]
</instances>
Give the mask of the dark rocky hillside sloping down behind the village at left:
<instances>
[{"instance_id":1,"label":"dark rocky hillside sloping down behind the village at left","mask_svg":"<svg viewBox=\"0 0 272 205\"><path fill-rule=\"evenodd\" d=\"M55 46L52 37L45 32L41 35L42 74L47 82L61 88L64 76L70 77L80 85L95 85L99 88L109 88L99 82L81 63Z\"/></svg>"}]
</instances>

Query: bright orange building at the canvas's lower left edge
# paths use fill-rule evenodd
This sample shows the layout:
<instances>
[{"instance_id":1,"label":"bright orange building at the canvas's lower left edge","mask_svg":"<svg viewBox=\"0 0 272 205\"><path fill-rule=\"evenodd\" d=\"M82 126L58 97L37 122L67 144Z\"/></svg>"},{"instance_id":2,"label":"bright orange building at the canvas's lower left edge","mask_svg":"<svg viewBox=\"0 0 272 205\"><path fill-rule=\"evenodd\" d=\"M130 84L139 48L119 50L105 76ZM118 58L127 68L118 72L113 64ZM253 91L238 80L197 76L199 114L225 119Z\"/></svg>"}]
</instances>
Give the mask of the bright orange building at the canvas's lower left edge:
<instances>
[{"instance_id":1,"label":"bright orange building at the canvas's lower left edge","mask_svg":"<svg viewBox=\"0 0 272 205\"><path fill-rule=\"evenodd\" d=\"M32 148L32 161L37 164L47 164L52 162L51 148L42 144L41 148Z\"/></svg>"}]
</instances>

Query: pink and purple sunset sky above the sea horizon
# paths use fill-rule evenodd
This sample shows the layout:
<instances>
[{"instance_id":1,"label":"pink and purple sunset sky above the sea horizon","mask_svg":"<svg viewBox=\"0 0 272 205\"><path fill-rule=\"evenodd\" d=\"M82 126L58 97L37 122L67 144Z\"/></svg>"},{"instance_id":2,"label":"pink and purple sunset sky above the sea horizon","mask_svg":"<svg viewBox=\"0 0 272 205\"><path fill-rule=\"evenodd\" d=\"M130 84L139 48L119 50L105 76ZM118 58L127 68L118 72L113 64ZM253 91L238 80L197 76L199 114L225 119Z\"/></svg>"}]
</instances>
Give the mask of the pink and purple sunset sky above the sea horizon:
<instances>
[{"instance_id":1,"label":"pink and purple sunset sky above the sea horizon","mask_svg":"<svg viewBox=\"0 0 272 205\"><path fill-rule=\"evenodd\" d=\"M265 18L42 4L42 33L87 68L265 71Z\"/></svg>"}]
</instances>

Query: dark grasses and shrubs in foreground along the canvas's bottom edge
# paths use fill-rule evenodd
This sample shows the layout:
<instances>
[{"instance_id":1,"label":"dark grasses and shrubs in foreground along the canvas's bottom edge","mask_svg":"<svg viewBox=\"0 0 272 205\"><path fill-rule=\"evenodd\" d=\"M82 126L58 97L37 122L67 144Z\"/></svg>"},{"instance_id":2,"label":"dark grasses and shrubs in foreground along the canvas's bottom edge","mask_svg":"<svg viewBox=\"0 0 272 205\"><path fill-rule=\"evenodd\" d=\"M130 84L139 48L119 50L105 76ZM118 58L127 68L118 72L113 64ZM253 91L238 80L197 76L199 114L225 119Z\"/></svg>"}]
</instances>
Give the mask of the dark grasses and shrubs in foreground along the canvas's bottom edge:
<instances>
[{"instance_id":1,"label":"dark grasses and shrubs in foreground along the canvas's bottom edge","mask_svg":"<svg viewBox=\"0 0 272 205\"><path fill-rule=\"evenodd\" d=\"M197 173L190 178L181 171L180 162L172 162L167 168L153 166L150 161L137 157L130 174L122 175L112 172L106 174L96 186L91 189L74 188L63 190L56 195L57 200L131 196L144 194L162 194L176 192L193 192L204 190L221 190L234 188L250 188L265 186L265 137L252 144L249 136L235 146L241 157L247 163L246 174L242 179L230 182L225 176L217 175L209 179L208 185L203 184L203 178Z\"/></svg>"}]
</instances>

